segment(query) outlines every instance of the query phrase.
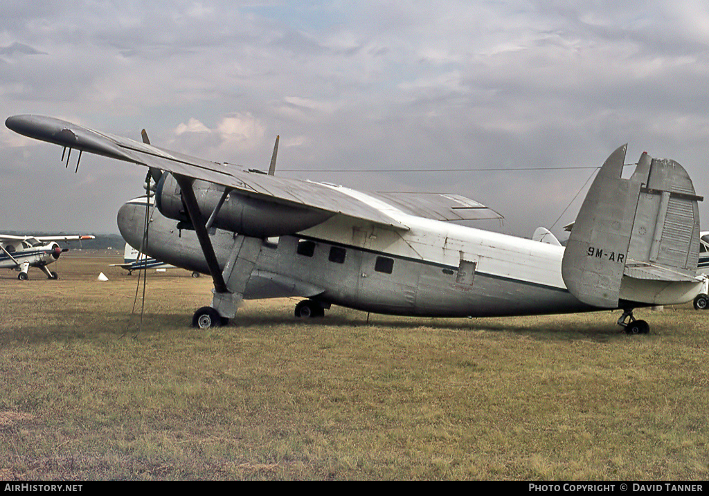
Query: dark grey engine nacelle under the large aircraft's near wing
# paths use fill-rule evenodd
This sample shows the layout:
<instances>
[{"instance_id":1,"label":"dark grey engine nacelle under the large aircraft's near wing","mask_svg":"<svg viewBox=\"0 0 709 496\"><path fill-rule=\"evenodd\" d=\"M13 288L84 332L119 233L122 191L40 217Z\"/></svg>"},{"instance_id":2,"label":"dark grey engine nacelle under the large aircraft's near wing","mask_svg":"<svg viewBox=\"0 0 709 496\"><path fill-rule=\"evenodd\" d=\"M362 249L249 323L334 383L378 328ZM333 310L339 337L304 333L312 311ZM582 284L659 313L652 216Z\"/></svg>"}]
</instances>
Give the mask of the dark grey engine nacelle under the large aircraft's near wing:
<instances>
[{"instance_id":1,"label":"dark grey engine nacelle under the large aircraft's near wing","mask_svg":"<svg viewBox=\"0 0 709 496\"><path fill-rule=\"evenodd\" d=\"M194 195L207 222L219 204L225 186L207 181L194 181ZM172 174L164 173L155 190L157 208L167 218L190 222L187 209L182 203L182 191ZM213 227L238 232L252 237L276 237L291 235L325 222L334 214L322 210L301 208L297 205L265 201L247 196L240 191L231 191L214 219Z\"/></svg>"}]
</instances>

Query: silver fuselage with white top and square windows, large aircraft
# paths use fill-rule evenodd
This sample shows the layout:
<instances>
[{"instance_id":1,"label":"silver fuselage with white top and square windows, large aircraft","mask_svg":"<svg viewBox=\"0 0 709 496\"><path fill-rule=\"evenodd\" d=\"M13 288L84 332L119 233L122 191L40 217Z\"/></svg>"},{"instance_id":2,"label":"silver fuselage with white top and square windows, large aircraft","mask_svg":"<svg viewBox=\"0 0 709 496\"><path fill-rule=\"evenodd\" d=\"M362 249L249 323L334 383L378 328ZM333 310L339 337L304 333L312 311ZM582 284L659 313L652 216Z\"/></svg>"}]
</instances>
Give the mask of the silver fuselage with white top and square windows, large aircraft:
<instances>
[{"instance_id":1,"label":"silver fuselage with white top and square windows, large aircraft","mask_svg":"<svg viewBox=\"0 0 709 496\"><path fill-rule=\"evenodd\" d=\"M195 233L145 198L118 212L124 239L150 257L208 274ZM246 299L301 296L370 312L437 317L530 315L593 310L561 277L563 247L424 218L397 231L336 216L298 235L264 239ZM235 234L214 230L223 267Z\"/></svg>"}]
</instances>

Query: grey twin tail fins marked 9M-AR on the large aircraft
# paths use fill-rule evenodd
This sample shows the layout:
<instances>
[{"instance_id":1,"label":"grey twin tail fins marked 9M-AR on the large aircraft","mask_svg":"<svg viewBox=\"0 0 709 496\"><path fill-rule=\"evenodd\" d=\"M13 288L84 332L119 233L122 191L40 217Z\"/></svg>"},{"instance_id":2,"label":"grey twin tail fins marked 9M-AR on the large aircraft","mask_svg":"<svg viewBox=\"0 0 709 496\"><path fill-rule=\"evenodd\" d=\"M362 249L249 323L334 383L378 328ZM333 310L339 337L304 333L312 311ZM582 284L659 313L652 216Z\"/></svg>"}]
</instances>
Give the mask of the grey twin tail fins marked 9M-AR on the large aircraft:
<instances>
[{"instance_id":1,"label":"grey twin tail fins marked 9M-AR on the large aircraft","mask_svg":"<svg viewBox=\"0 0 709 496\"><path fill-rule=\"evenodd\" d=\"M618 308L621 299L659 303L664 290L655 283L697 282L703 198L673 160L642 154L632 177L622 179L626 149L610 154L598 172L562 260L571 294L601 308Z\"/></svg>"}]
</instances>

